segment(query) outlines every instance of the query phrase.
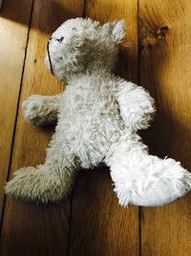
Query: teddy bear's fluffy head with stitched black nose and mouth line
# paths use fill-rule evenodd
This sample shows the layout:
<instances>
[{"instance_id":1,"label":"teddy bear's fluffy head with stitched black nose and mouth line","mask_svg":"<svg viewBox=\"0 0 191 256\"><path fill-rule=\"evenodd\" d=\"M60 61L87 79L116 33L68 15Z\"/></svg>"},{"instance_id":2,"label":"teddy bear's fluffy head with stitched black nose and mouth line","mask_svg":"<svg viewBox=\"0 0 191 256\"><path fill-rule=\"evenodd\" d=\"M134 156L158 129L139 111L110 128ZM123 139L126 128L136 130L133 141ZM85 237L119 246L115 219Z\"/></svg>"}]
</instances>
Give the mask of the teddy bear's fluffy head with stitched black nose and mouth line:
<instances>
[{"instance_id":1,"label":"teddy bear's fluffy head with stitched black nose and mouth line","mask_svg":"<svg viewBox=\"0 0 191 256\"><path fill-rule=\"evenodd\" d=\"M45 63L65 81L84 70L111 70L124 35L123 20L100 25L90 18L69 19L50 38Z\"/></svg>"}]
</instances>

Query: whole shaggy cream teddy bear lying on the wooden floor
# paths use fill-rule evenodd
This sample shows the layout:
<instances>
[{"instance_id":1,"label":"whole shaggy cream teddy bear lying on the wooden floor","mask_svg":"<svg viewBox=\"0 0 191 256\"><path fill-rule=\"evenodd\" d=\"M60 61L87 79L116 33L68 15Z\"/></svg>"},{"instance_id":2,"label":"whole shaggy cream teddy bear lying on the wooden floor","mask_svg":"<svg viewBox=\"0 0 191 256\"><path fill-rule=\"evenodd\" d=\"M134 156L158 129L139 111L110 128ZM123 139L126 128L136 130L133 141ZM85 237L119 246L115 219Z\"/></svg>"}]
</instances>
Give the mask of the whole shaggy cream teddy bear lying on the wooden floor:
<instances>
[{"instance_id":1,"label":"whole shaggy cream teddy bear lying on the wooden floor","mask_svg":"<svg viewBox=\"0 0 191 256\"><path fill-rule=\"evenodd\" d=\"M22 105L33 125L56 123L44 164L24 167L6 194L47 203L66 198L80 169L110 168L120 205L158 206L182 197L191 174L171 158L151 155L138 130L148 128L154 99L114 74L124 21L101 25L90 18L65 21L48 42L45 63L66 82L55 96L32 95Z\"/></svg>"}]
</instances>

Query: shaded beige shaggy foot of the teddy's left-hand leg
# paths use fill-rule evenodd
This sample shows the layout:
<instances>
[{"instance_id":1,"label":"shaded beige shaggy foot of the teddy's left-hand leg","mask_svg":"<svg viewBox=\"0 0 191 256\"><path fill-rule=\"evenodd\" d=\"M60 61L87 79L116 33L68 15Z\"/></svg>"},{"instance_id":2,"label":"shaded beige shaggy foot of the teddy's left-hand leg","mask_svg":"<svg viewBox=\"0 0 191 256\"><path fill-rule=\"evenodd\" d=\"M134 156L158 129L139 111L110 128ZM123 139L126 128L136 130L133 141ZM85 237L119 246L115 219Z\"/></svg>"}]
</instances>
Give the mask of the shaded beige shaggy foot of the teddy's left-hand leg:
<instances>
[{"instance_id":1,"label":"shaded beige shaggy foot of the teddy's left-hand leg","mask_svg":"<svg viewBox=\"0 0 191 256\"><path fill-rule=\"evenodd\" d=\"M8 196L30 201L47 203L65 198L68 190L62 180L50 174L43 166L22 168L5 186Z\"/></svg>"}]
</instances>

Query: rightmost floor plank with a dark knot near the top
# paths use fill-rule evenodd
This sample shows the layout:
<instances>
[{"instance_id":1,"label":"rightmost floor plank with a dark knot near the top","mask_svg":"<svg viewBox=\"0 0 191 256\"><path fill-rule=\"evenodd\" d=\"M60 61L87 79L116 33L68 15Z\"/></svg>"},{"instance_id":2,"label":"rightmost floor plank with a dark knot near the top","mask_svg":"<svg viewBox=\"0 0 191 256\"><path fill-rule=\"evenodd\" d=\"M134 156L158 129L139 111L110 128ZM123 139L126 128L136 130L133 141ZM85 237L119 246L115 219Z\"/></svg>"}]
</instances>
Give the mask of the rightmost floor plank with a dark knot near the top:
<instances>
[{"instance_id":1,"label":"rightmost floor plank with a dark knot near the top","mask_svg":"<svg viewBox=\"0 0 191 256\"><path fill-rule=\"evenodd\" d=\"M140 84L153 92L158 115L147 133L152 152L191 170L191 3L139 0ZM165 40L160 27L168 27ZM148 140L148 139L147 139ZM191 255L191 196L141 209L141 255Z\"/></svg>"}]
</instances>

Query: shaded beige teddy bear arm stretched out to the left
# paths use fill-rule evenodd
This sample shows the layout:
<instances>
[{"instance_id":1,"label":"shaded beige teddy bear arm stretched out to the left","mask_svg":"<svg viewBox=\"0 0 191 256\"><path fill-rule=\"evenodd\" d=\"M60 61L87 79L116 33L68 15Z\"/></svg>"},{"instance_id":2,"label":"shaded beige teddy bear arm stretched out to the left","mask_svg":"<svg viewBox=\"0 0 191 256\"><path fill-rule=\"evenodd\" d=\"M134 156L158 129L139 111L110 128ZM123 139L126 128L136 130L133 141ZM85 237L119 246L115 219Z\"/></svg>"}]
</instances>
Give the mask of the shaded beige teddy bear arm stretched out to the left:
<instances>
[{"instance_id":1,"label":"shaded beige teddy bear arm stretched out to the left","mask_svg":"<svg viewBox=\"0 0 191 256\"><path fill-rule=\"evenodd\" d=\"M25 120L37 126L53 124L57 120L61 95L32 95L22 105Z\"/></svg>"}]
</instances>

